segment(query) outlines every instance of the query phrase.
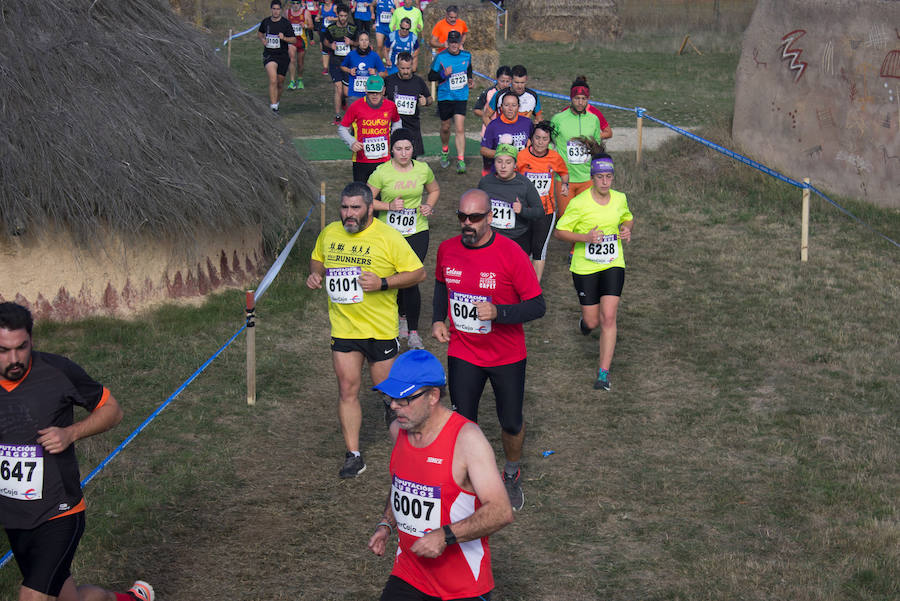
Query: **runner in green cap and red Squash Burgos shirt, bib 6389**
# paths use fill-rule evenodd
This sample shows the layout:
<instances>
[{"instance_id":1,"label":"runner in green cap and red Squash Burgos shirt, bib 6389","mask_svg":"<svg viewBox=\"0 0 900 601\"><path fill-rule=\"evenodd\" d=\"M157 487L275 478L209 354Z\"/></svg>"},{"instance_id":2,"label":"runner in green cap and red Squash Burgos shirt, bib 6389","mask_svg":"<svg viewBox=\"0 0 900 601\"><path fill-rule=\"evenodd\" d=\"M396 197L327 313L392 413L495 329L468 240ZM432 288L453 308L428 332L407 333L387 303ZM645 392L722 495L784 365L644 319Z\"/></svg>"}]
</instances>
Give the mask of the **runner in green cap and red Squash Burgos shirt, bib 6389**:
<instances>
[{"instance_id":1,"label":"runner in green cap and red Squash Burgos shirt, bib 6389","mask_svg":"<svg viewBox=\"0 0 900 601\"><path fill-rule=\"evenodd\" d=\"M350 105L338 127L338 135L353 151L353 181L368 181L375 168L390 159L388 141L391 132L399 128L397 107L384 97L384 80L370 75L366 97Z\"/></svg>"}]
</instances>

